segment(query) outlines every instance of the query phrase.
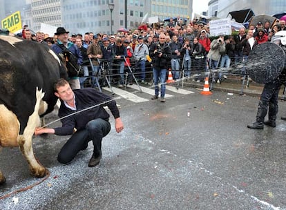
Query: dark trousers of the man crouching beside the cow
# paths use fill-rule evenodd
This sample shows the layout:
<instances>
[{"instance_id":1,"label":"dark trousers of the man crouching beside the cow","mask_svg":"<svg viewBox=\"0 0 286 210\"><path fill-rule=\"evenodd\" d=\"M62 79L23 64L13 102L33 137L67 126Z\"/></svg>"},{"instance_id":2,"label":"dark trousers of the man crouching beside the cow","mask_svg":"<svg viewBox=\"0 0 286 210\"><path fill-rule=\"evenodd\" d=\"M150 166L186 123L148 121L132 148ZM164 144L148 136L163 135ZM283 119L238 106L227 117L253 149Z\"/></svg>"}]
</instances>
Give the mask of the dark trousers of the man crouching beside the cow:
<instances>
[{"instance_id":1,"label":"dark trousers of the man crouching beside the cow","mask_svg":"<svg viewBox=\"0 0 286 210\"><path fill-rule=\"evenodd\" d=\"M97 118L90 120L86 128L75 132L59 151L57 160L66 164L75 158L79 151L86 149L89 141L93 141L93 153L99 155L102 150L102 138L111 131L111 124L106 120Z\"/></svg>"}]
</instances>

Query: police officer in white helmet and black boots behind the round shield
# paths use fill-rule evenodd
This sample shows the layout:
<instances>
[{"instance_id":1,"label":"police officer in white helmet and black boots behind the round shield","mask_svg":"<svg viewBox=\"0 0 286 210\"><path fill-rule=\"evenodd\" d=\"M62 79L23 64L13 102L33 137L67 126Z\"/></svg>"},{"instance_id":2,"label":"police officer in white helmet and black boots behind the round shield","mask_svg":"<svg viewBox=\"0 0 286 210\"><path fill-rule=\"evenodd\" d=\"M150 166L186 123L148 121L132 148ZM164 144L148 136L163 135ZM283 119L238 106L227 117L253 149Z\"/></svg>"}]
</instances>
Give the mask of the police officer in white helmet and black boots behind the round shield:
<instances>
[{"instance_id":1,"label":"police officer in white helmet and black boots behind the round shield","mask_svg":"<svg viewBox=\"0 0 286 210\"><path fill-rule=\"evenodd\" d=\"M272 37L271 42L278 44L286 53L286 31L277 32L274 37ZM285 61L286 64L286 61ZM276 127L276 114L278 113L278 93L280 86L285 84L286 81L286 66L284 64L284 69L277 79L272 82L265 84L263 88L263 93L261 94L260 101L258 104L258 111L256 114L256 122L247 125L247 128L251 129L263 129L263 124L271 127ZM264 118L268 111L268 120L264 121ZM286 117L281 117L282 120L286 120Z\"/></svg>"}]
</instances>

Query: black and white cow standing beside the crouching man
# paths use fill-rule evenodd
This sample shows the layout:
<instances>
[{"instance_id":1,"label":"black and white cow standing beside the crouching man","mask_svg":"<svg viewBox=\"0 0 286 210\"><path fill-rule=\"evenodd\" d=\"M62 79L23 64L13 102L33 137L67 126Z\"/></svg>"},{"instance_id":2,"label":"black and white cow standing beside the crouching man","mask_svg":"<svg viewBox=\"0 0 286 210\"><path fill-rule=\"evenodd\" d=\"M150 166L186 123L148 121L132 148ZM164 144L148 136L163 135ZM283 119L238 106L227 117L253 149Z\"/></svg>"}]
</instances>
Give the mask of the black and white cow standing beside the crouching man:
<instances>
[{"instance_id":1,"label":"black and white cow standing beside the crouching man","mask_svg":"<svg viewBox=\"0 0 286 210\"><path fill-rule=\"evenodd\" d=\"M66 67L46 44L0 35L0 147L19 146L36 177L47 171L35 159L32 136L39 116L53 111L59 77L67 77Z\"/></svg>"}]
</instances>

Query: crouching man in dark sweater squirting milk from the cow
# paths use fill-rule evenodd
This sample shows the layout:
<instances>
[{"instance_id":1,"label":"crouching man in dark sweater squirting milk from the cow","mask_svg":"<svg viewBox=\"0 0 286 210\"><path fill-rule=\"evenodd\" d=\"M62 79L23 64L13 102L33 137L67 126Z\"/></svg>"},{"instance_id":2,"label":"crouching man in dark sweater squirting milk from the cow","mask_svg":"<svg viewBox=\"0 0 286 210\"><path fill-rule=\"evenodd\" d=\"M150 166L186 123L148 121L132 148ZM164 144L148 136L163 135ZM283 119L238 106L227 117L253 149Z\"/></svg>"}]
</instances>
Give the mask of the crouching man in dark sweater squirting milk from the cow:
<instances>
[{"instance_id":1,"label":"crouching man in dark sweater squirting milk from the cow","mask_svg":"<svg viewBox=\"0 0 286 210\"><path fill-rule=\"evenodd\" d=\"M120 133L124 126L115 100L93 88L72 90L65 79L59 79L54 86L55 95L61 100L59 117L62 126L57 128L36 128L35 135L50 133L55 135L71 135L59 152L57 160L66 164L75 155L93 141L93 155L88 166L94 167L102 158L102 138L111 130L109 115L104 106L108 106L115 118L115 129ZM90 108L93 107L93 108ZM90 108L82 111L85 108ZM82 111L76 113L77 111ZM74 115L70 115L76 113ZM70 116L69 116L70 115ZM75 131L75 132L74 132Z\"/></svg>"}]
</instances>

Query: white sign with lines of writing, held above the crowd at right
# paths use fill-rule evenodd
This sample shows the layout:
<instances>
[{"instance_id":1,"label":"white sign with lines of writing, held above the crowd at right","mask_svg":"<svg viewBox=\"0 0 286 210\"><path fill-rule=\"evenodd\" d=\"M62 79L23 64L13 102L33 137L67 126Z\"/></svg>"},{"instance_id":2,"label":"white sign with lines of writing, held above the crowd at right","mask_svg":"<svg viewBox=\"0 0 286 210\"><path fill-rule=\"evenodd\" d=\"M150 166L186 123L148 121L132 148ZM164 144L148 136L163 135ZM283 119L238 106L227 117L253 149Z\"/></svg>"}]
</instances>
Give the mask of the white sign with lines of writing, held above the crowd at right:
<instances>
[{"instance_id":1,"label":"white sign with lines of writing, held above the crowd at right","mask_svg":"<svg viewBox=\"0 0 286 210\"><path fill-rule=\"evenodd\" d=\"M209 21L209 32L211 36L231 35L231 19Z\"/></svg>"}]
</instances>

